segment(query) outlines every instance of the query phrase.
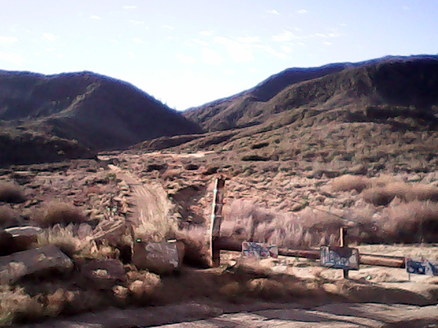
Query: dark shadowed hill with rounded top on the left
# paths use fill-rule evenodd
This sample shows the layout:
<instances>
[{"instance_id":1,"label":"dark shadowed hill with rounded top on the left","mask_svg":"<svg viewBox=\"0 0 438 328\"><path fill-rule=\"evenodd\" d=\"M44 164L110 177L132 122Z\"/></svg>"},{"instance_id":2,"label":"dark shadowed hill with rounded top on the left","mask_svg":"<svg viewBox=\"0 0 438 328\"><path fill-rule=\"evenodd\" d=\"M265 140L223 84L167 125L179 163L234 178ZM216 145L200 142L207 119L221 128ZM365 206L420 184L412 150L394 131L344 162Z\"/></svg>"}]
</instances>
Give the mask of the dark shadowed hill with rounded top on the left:
<instances>
[{"instance_id":1,"label":"dark shadowed hill with rounded top on the left","mask_svg":"<svg viewBox=\"0 0 438 328\"><path fill-rule=\"evenodd\" d=\"M0 71L0 124L5 144L14 144L17 135L29 142L47 139L46 143L55 137L64 140L57 148L73 141L70 146L92 151L201 132L196 124L133 85L92 72L44 76ZM36 138L23 137L20 131Z\"/></svg>"}]
</instances>

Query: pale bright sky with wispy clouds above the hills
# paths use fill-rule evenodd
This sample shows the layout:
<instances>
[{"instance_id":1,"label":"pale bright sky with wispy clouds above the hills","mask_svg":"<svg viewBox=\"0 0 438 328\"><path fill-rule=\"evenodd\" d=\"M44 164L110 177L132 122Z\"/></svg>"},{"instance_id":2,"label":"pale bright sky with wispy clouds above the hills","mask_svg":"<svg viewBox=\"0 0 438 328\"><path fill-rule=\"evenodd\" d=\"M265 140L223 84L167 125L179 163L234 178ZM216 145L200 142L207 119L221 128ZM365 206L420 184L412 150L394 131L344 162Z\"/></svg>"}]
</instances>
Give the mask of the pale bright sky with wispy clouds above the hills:
<instances>
[{"instance_id":1,"label":"pale bright sky with wispy clouds above the hills","mask_svg":"<svg viewBox=\"0 0 438 328\"><path fill-rule=\"evenodd\" d=\"M438 1L0 0L0 70L90 70L177 110L290 67L438 53Z\"/></svg>"}]
</instances>

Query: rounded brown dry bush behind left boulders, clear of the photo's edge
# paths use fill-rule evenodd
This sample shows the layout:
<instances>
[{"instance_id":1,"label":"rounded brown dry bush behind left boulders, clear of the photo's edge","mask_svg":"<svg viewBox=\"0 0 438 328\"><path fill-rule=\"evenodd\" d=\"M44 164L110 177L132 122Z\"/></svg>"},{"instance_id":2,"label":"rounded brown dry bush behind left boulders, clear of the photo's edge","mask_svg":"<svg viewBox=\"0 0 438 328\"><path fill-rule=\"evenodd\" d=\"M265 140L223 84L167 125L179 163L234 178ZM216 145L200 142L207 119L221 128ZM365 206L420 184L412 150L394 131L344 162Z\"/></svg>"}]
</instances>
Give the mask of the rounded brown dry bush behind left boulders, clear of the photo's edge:
<instances>
[{"instance_id":1,"label":"rounded brown dry bush behind left boulders, clear of the photo's edge","mask_svg":"<svg viewBox=\"0 0 438 328\"><path fill-rule=\"evenodd\" d=\"M79 208L72 204L51 202L47 204L44 215L40 217L39 221L43 227L51 227L57 223L66 226L69 223L83 223L86 221L86 217Z\"/></svg>"}]
</instances>

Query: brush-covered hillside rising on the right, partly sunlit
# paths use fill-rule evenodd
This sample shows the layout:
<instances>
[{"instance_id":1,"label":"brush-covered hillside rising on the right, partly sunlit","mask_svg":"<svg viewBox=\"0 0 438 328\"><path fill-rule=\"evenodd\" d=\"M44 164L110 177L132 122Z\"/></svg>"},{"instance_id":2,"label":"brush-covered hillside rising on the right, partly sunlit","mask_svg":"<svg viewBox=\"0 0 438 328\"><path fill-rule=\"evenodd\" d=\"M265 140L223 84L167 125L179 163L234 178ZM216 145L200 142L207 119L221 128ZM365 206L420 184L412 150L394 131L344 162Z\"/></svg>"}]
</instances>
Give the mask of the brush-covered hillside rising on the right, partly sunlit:
<instances>
[{"instance_id":1,"label":"brush-covered hillside rising on the right, partly sunlit","mask_svg":"<svg viewBox=\"0 0 438 328\"><path fill-rule=\"evenodd\" d=\"M263 90L256 87L190 109L185 117L211 132L134 149L212 150L236 168L267 162L316 171L360 165L370 172L431 172L438 168L437 89L437 56L374 59L292 83L267 101L257 100Z\"/></svg>"}]
</instances>

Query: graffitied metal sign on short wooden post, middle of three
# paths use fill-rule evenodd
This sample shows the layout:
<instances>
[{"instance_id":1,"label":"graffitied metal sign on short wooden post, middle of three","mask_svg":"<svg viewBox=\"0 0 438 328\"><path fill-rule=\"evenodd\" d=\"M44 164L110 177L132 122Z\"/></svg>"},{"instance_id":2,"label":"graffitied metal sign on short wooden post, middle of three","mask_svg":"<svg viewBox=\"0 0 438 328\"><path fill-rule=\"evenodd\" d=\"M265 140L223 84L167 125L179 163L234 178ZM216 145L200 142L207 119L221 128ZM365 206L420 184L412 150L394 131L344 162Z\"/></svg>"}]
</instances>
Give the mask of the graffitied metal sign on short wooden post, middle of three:
<instances>
[{"instance_id":1,"label":"graffitied metal sign on short wooden post, middle of three","mask_svg":"<svg viewBox=\"0 0 438 328\"><path fill-rule=\"evenodd\" d=\"M332 269L359 270L359 249L322 246L320 265Z\"/></svg>"}]
</instances>

